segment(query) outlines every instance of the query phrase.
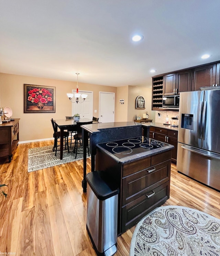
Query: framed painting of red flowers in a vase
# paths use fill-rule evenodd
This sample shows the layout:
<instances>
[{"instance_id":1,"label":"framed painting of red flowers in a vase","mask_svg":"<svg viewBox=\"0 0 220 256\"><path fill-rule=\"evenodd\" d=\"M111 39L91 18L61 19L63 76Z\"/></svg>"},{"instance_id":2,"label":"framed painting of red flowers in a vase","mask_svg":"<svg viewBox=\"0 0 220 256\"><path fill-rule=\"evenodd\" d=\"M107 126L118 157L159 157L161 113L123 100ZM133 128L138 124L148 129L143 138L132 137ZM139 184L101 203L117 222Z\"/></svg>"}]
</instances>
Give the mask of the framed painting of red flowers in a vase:
<instances>
[{"instance_id":1,"label":"framed painting of red flowers in a vase","mask_svg":"<svg viewBox=\"0 0 220 256\"><path fill-rule=\"evenodd\" d=\"M24 113L55 113L56 87L24 84Z\"/></svg>"}]
</instances>

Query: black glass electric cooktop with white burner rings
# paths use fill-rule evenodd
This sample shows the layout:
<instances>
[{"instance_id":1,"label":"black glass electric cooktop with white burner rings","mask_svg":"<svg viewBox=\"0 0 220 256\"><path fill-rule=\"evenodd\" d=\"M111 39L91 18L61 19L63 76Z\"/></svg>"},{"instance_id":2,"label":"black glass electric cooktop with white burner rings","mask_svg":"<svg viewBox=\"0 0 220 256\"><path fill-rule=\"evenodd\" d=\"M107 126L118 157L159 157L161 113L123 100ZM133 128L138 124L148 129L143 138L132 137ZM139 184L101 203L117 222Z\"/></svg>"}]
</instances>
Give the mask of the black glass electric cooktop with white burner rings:
<instances>
[{"instance_id":1,"label":"black glass electric cooktop with white burner rings","mask_svg":"<svg viewBox=\"0 0 220 256\"><path fill-rule=\"evenodd\" d=\"M118 158L149 151L155 148L165 147L168 144L144 136L100 143L99 146L114 154Z\"/></svg>"}]
</instances>

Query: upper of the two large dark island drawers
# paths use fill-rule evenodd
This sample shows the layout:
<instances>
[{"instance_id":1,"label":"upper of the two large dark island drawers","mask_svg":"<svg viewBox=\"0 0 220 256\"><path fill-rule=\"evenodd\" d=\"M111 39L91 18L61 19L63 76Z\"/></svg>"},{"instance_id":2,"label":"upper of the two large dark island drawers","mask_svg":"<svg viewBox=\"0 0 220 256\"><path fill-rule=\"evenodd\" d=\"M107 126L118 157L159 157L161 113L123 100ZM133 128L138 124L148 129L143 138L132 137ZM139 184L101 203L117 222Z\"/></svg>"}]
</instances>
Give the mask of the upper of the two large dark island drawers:
<instances>
[{"instance_id":1,"label":"upper of the two large dark island drawers","mask_svg":"<svg viewBox=\"0 0 220 256\"><path fill-rule=\"evenodd\" d=\"M170 160L122 179L122 205L128 204L170 179Z\"/></svg>"}]
</instances>

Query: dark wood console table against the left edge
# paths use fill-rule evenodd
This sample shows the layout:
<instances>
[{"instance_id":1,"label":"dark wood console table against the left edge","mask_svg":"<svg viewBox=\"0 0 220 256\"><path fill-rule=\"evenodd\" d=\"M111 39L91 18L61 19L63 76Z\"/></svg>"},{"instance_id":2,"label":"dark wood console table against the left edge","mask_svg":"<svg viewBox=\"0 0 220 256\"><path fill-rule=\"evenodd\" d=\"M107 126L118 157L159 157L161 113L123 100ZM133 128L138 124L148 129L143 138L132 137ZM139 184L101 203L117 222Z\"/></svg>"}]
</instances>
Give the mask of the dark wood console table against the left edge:
<instances>
[{"instance_id":1,"label":"dark wood console table against the left edge","mask_svg":"<svg viewBox=\"0 0 220 256\"><path fill-rule=\"evenodd\" d=\"M16 118L0 125L0 157L8 157L9 163L19 142L19 120Z\"/></svg>"}]
</instances>

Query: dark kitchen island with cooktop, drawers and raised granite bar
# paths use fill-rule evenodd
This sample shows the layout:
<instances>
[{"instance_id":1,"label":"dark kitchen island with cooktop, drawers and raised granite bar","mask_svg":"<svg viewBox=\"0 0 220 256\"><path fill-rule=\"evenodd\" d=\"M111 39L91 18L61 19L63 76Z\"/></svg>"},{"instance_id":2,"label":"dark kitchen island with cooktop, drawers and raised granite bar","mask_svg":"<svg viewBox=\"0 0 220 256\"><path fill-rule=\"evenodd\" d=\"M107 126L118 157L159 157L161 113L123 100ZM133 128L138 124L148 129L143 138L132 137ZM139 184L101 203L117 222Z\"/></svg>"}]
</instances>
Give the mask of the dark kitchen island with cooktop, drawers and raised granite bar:
<instances>
[{"instance_id":1,"label":"dark kitchen island with cooktop, drawers and raised granite bar","mask_svg":"<svg viewBox=\"0 0 220 256\"><path fill-rule=\"evenodd\" d=\"M101 124L82 127L87 131L84 137L90 131L94 170L106 171L120 189L120 235L169 198L171 150L174 146L148 138L150 125L116 122L109 127L109 124L102 124L103 127L108 126L106 129L101 129ZM83 143L85 141L83 139ZM85 188L84 182L82 185Z\"/></svg>"}]
</instances>

